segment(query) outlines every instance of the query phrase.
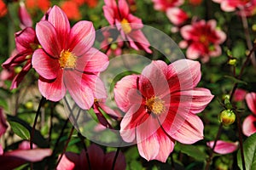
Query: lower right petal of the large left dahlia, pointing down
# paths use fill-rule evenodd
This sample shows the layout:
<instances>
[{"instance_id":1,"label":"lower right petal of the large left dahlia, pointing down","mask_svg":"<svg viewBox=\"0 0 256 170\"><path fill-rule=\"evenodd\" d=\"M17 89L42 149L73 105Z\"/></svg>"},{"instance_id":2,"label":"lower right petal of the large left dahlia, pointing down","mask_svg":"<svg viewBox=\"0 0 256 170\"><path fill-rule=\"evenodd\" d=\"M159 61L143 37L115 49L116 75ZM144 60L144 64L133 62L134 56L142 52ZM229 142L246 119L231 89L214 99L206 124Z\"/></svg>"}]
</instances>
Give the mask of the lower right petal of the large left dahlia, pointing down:
<instances>
[{"instance_id":1,"label":"lower right petal of the large left dahlia, pointing down","mask_svg":"<svg viewBox=\"0 0 256 170\"><path fill-rule=\"evenodd\" d=\"M90 109L94 102L93 92L96 89L95 75L86 75L78 71L65 71L64 81L73 100L84 110Z\"/></svg>"}]
</instances>

